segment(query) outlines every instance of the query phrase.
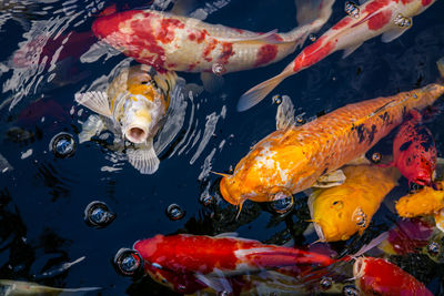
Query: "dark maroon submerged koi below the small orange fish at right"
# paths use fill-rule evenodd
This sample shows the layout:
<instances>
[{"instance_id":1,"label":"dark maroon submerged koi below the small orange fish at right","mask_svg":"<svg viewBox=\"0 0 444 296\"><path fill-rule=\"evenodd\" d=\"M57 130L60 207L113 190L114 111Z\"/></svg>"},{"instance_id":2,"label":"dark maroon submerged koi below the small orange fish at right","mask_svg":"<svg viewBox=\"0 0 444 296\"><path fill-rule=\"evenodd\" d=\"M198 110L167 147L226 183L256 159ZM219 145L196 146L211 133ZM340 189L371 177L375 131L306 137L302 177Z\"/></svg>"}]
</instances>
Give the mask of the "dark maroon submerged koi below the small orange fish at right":
<instances>
[{"instance_id":1,"label":"dark maroon submerged koi below the small orange fish at right","mask_svg":"<svg viewBox=\"0 0 444 296\"><path fill-rule=\"evenodd\" d=\"M390 255L415 253L428 244L433 229L434 224L423 218L396 221L389 237L377 247Z\"/></svg>"}]
</instances>

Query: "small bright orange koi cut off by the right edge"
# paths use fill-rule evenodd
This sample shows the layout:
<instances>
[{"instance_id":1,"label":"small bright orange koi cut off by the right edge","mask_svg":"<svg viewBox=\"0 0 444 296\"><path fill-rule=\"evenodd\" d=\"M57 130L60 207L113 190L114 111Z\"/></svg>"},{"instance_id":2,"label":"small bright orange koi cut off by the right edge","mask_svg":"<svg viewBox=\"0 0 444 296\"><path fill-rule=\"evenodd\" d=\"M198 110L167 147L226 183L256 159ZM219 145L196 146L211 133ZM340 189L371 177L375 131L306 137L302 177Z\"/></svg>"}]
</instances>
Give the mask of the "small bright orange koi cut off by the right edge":
<instances>
[{"instance_id":1,"label":"small bright orange koi cut off by the right edge","mask_svg":"<svg viewBox=\"0 0 444 296\"><path fill-rule=\"evenodd\" d=\"M438 186L444 186L444 182L438 182ZM401 217L433 215L444 208L444 191L425 186L418 192L401 197L396 202L395 208Z\"/></svg>"}]
</instances>

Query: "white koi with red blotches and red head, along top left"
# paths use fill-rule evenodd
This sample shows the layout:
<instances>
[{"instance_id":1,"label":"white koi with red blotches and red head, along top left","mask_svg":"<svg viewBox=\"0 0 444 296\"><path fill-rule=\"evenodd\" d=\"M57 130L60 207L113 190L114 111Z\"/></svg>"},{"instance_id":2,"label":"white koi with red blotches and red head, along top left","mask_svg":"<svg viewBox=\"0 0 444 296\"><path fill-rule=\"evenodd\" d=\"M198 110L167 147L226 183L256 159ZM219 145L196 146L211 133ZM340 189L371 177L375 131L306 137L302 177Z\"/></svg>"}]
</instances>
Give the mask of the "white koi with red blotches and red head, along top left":
<instances>
[{"instance_id":1,"label":"white koi with red blotches and red head, along top left","mask_svg":"<svg viewBox=\"0 0 444 296\"><path fill-rule=\"evenodd\" d=\"M297 1L301 27L256 33L154 10L130 10L97 19L92 31L135 61L160 70L218 73L278 62L325 23L334 0ZM109 13L109 12L108 12Z\"/></svg>"}]
</instances>

